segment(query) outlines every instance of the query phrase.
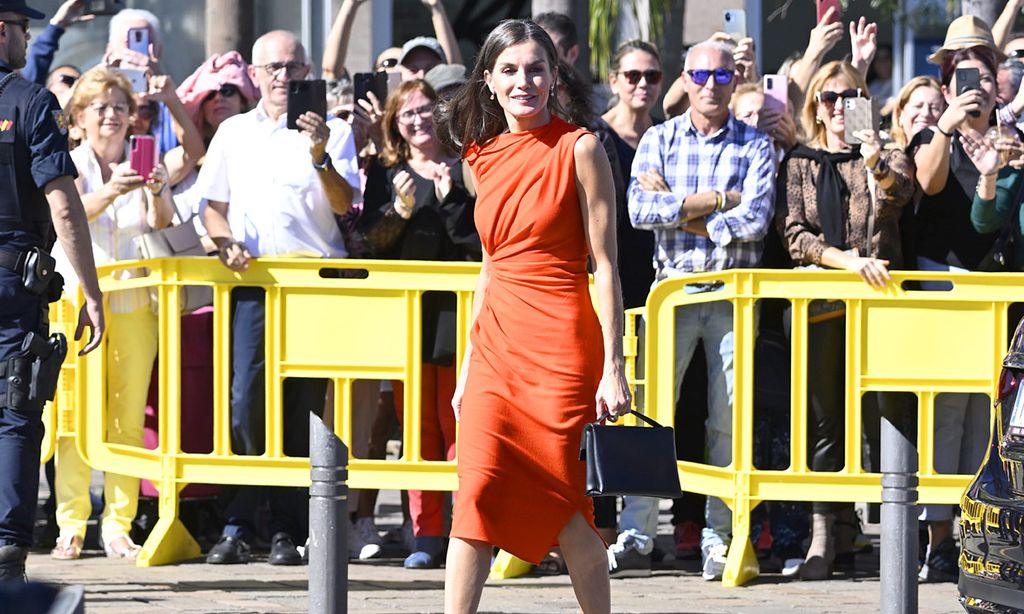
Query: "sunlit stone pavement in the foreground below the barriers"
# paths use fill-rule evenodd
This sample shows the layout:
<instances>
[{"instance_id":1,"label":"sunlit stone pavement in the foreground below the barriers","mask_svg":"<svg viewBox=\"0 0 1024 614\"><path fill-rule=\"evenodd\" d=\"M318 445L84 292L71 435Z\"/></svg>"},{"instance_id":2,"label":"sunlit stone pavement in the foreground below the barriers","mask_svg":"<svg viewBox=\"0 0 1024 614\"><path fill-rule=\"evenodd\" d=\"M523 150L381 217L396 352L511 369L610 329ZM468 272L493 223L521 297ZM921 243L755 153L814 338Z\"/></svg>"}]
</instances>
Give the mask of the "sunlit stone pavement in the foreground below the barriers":
<instances>
[{"instance_id":1,"label":"sunlit stone pavement in the foreground below the barriers","mask_svg":"<svg viewBox=\"0 0 1024 614\"><path fill-rule=\"evenodd\" d=\"M98 491L98 474L92 488ZM44 489L41 492L45 497ZM397 491L383 490L378 499L378 528L389 529L394 541L385 543L377 561L348 566L348 607L351 612L440 612L444 572L407 570L404 551L397 543L401 524ZM663 501L656 545L671 552L670 501ZM857 557L856 571L823 582L801 582L764 574L745 586L724 588L700 578L697 561L671 556L655 565L649 578L612 580L612 611L645 613L827 614L879 611L878 525L866 525L874 550ZM195 560L165 567L138 568L106 559L96 549L95 519L90 521L86 547L78 561L54 561L45 553L29 558L29 575L58 585L81 584L87 613L290 613L308 611L306 567L274 567L265 555L249 565L206 565ZM575 612L568 576L527 576L488 582L481 612ZM925 584L920 589L922 614L959 614L956 585ZM3 604L0 613L5 614Z\"/></svg>"}]
</instances>

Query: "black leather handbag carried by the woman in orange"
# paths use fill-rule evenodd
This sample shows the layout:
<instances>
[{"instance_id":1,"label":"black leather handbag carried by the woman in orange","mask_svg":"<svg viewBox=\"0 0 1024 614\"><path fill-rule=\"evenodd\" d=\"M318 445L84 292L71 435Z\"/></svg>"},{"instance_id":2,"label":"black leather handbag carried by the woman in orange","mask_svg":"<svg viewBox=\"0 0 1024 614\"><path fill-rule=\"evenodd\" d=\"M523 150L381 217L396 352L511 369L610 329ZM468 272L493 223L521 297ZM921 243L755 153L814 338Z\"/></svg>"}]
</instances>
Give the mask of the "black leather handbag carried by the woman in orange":
<instances>
[{"instance_id":1,"label":"black leather handbag carried by the woman in orange","mask_svg":"<svg viewBox=\"0 0 1024 614\"><path fill-rule=\"evenodd\" d=\"M650 427L587 424L580 459L587 462L587 494L682 496L676 465L676 437L671 427L630 411Z\"/></svg>"}]
</instances>

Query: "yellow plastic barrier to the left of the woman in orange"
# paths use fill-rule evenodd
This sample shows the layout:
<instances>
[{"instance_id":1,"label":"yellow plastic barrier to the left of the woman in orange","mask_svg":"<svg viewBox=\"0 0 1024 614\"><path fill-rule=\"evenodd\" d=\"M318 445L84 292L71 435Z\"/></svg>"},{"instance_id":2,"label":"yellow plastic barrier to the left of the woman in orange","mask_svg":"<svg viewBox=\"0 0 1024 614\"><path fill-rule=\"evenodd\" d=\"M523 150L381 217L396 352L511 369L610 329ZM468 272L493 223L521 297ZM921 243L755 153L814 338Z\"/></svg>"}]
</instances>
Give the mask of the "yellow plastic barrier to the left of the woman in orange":
<instances>
[{"instance_id":1,"label":"yellow plastic barrier to the left of the woman in orange","mask_svg":"<svg viewBox=\"0 0 1024 614\"><path fill-rule=\"evenodd\" d=\"M104 293L155 288L160 302L159 445L108 443L103 352L77 360L84 386L78 413L78 445L95 469L145 478L160 490L160 521L138 557L139 566L199 556L198 544L177 520L178 494L189 483L306 486L307 458L282 450L280 401L286 378L324 378L335 384L335 431L350 441L351 383L401 380L404 386L403 454L398 461L352 458L351 488L454 490L454 463L424 462L420 443L421 298L451 292L458 299L458 354L469 334L472 293L479 266L354 260L259 259L236 274L215 259L147 261L150 274L118 280L111 274L139 266L123 262L100 267ZM179 295L185 286L214 289L213 452L181 451ZM259 456L236 455L230 445L230 292L258 287L266 292L266 449Z\"/></svg>"}]
</instances>

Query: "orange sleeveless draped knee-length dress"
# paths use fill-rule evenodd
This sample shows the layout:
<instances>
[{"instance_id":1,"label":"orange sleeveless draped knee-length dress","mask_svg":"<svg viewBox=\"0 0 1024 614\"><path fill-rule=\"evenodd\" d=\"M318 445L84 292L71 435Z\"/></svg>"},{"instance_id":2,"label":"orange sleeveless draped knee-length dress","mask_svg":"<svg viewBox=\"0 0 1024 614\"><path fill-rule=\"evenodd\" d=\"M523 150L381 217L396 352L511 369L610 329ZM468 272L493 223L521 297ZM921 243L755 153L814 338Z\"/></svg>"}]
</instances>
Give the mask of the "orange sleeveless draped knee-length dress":
<instances>
[{"instance_id":1,"label":"orange sleeveless draped knee-length dress","mask_svg":"<svg viewBox=\"0 0 1024 614\"><path fill-rule=\"evenodd\" d=\"M466 157L492 276L471 332L451 535L535 564L572 515L594 524L579 454L604 348L574 178L584 134L553 118Z\"/></svg>"}]
</instances>

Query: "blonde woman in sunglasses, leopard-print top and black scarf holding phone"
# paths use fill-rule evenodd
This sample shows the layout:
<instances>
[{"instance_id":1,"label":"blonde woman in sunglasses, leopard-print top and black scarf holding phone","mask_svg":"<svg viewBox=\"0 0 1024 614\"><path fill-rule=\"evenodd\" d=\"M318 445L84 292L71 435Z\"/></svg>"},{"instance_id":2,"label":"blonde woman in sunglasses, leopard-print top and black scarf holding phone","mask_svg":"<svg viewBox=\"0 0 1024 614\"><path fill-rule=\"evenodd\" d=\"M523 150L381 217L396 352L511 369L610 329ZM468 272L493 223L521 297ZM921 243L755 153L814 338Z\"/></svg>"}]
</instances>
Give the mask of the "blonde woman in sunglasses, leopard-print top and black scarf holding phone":
<instances>
[{"instance_id":1,"label":"blonde woman in sunglasses, leopard-print top and black scarf holding phone","mask_svg":"<svg viewBox=\"0 0 1024 614\"><path fill-rule=\"evenodd\" d=\"M913 191L910 163L898 149L883 150L876 130L844 141L844 101L866 96L867 86L853 65L829 62L815 74L804 101L807 144L798 145L779 170L776 220L783 224L790 256L800 265L857 273L870 287L889 282L899 266L900 210ZM843 468L843 384L846 342L842 303L815 301L808 331L808 408L810 466L813 471ZM848 510L849 508L849 510ZM812 506L811 545L800 570L807 580L827 578L836 554L852 550L856 526L838 527L848 503Z\"/></svg>"}]
</instances>

